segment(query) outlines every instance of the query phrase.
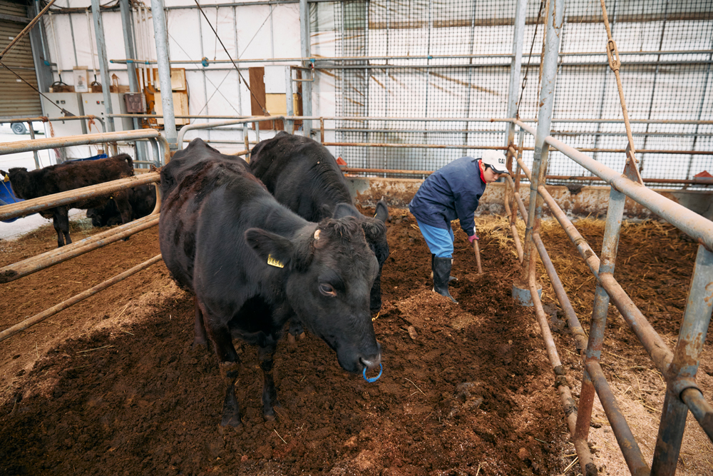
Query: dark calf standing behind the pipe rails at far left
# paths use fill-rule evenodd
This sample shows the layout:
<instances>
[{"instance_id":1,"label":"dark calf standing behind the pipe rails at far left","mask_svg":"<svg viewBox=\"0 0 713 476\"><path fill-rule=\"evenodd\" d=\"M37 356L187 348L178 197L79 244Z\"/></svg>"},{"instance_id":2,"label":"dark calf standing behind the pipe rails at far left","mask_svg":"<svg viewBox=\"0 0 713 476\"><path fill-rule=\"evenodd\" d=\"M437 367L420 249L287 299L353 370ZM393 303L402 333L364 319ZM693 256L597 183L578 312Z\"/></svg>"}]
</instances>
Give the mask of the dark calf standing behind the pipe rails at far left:
<instances>
[{"instance_id":1,"label":"dark calf standing behind the pipe rails at far left","mask_svg":"<svg viewBox=\"0 0 713 476\"><path fill-rule=\"evenodd\" d=\"M109 158L100 158L96 161L68 161L29 172L26 168L11 168L8 171L15 195L25 200L110 182L133 176L133 174L133 161L125 153ZM131 221L128 191L116 191L111 194L111 198L120 211L121 223ZM72 203L71 207L96 208L102 206L109 199L108 195L87 198ZM59 206L40 212L41 216L52 218L54 229L57 232L57 247L64 245L65 238L67 244L72 243L69 238L68 210L69 206Z\"/></svg>"}]
</instances>

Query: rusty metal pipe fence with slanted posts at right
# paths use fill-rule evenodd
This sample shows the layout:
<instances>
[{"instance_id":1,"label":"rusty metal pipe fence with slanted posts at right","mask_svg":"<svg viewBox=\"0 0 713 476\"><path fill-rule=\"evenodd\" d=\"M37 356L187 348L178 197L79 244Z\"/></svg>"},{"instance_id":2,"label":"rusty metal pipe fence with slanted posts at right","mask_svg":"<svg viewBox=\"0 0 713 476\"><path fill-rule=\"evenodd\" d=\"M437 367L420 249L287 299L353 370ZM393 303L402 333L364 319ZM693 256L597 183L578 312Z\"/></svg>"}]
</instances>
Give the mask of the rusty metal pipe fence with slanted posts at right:
<instances>
[{"instance_id":1,"label":"rusty metal pipe fence with slanted posts at right","mask_svg":"<svg viewBox=\"0 0 713 476\"><path fill-rule=\"evenodd\" d=\"M520 126L521 131L536 133L533 128L525 126L525 124L520 121L513 122ZM622 174L602 166L580 151L565 146L565 144L557 141L552 136L545 137L544 141L548 146L553 146L557 150L563 151L565 155L582 163L589 171L595 173L599 178L607 181L607 183L610 183L612 191L612 196L610 197L610 211L607 213L607 231L605 231L604 245L602 246L602 255L604 258L600 260L590 245L588 245L580 233L578 233L573 223L565 216L565 213L560 209L557 203L555 203L552 196L550 196L544 186L544 181L535 181L525 163L519 156L517 157L518 168L525 173L525 176L530 177L531 186L535 187L538 196L547 203L550 211L553 212L553 216L555 216L565 230L565 233L567 233L570 240L575 244L580 255L597 279L594 314L589 333L590 337L584 352L585 370L583 372L582 390L580 392L578 405L578 421L575 425L575 432L573 432L575 446L578 440L586 440L587 438L593 396L596 392L600 397L602 407L604 407L607 419L612 425L612 431L617 437L617 442L620 444L622 454L632 474L650 474L650 469L642 456L630 427L627 425L625 417L622 415L616 397L612 393L599 363L605 334L606 308L609 300L611 300L632 331L637 335L637 338L645 350L647 350L647 353L649 353L656 368L660 370L667 381L667 397L660 422L660 431L657 437L651 474L673 474L676 468L675 461L677 460L681 445L682 430L671 431L668 429L682 428L685 423L687 410L692 411L694 417L696 417L704 431L713 441L712 408L695 383L699 357L709 327L713 307L711 290L705 288L705 286L709 286L709 283L713 280L713 253L711 252L713 249L711 248L713 245L713 222L688 211L679 204L667 200L657 193L641 186L639 183L632 181L631 176L622 176ZM508 155L517 156L518 149L515 148L514 145L511 145L511 148L508 149ZM521 151L519 151L519 155L521 156ZM518 201L523 219L528 220L524 205L519 198L518 184L512 181L511 178L508 178L508 183L510 184L510 193L506 196L508 208L511 203ZM613 276L616 259L615 249L620 230L618 226L612 226L612 222L620 223L621 221L624 196L629 196L650 210L657 211L662 218L665 218L674 226L677 226L680 231L692 236L699 243L692 285L689 290L688 304L684 313L684 321L682 323L678 343L673 351L668 348L662 338L660 338L660 335L652 328L645 316ZM531 207L533 206L532 203L533 198L531 197ZM511 228L513 233L517 233L515 227ZM550 280L553 281L553 288L556 290L558 288L558 285L556 285L558 280L552 279L553 275L556 276L556 273L550 270L550 262L545 246L541 243L541 240L538 242L538 238L537 233L532 233L531 237L528 236L526 239L533 240L533 243L537 246L540 258L542 258L545 269L548 270L548 275L550 275ZM530 276L532 280L533 274L530 274ZM530 283L530 293L533 301L536 303L539 298L533 283ZM555 292L555 294L562 308L567 309L569 307L569 300L566 298L566 294L563 295L560 292ZM597 309L600 310L598 313ZM539 310L536 310L536 313L540 315ZM582 338L578 334L575 334L575 342L578 350L580 350L580 348L582 348ZM673 462L672 458L674 458Z\"/></svg>"}]
</instances>

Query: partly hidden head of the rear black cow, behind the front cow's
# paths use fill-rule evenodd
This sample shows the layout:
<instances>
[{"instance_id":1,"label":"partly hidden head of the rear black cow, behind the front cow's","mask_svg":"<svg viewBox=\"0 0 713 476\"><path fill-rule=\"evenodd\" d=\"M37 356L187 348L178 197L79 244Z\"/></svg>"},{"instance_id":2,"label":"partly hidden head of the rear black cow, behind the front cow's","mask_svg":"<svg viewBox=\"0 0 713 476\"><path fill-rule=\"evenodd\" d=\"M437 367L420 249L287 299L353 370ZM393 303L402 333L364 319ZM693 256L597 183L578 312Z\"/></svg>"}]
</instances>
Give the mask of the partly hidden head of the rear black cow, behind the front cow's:
<instances>
[{"instance_id":1,"label":"partly hidden head of the rear black cow, behind the front cow's","mask_svg":"<svg viewBox=\"0 0 713 476\"><path fill-rule=\"evenodd\" d=\"M386 242L385 225L386 220L389 219L389 208L386 206L384 198L381 198L376 203L376 213L371 218L359 213L350 203L339 203L334 208L334 218L345 216L353 216L359 221L361 228L364 229L366 243L369 243L369 248L379 263L379 275L376 275L376 279L374 279L369 298L369 309L372 314L376 315L381 310L381 268L384 267L386 258L389 258L389 243Z\"/></svg>"}]
</instances>

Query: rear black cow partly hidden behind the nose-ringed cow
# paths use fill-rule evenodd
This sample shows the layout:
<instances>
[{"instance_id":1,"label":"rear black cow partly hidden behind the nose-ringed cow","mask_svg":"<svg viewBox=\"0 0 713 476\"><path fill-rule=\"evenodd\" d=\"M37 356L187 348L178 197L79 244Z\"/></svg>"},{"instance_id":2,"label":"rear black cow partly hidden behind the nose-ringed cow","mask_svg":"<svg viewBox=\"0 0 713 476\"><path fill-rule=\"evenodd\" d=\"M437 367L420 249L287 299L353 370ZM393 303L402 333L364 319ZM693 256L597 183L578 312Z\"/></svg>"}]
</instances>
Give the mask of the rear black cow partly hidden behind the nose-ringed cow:
<instances>
[{"instance_id":1,"label":"rear black cow partly hidden behind the nose-ringed cow","mask_svg":"<svg viewBox=\"0 0 713 476\"><path fill-rule=\"evenodd\" d=\"M379 262L379 275L371 288L369 308L381 309L381 268L389 258L386 202L376 203L373 218L359 213L349 193L347 180L326 147L303 136L281 131L252 149L250 168L279 203L309 221L353 216L364 228L366 242Z\"/></svg>"}]
</instances>

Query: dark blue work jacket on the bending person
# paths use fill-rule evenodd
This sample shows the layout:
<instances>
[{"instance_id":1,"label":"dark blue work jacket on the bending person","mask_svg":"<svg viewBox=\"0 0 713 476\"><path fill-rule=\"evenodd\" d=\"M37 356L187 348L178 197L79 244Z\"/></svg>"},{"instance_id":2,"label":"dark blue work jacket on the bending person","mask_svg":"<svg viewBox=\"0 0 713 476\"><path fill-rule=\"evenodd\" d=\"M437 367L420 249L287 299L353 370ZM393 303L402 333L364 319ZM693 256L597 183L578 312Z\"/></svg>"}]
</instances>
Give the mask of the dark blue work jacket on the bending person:
<instances>
[{"instance_id":1,"label":"dark blue work jacket on the bending person","mask_svg":"<svg viewBox=\"0 0 713 476\"><path fill-rule=\"evenodd\" d=\"M473 214L485 190L480 159L457 158L426 178L409 203L409 210L421 223L445 230L458 218L463 231L473 236L476 233Z\"/></svg>"}]
</instances>

